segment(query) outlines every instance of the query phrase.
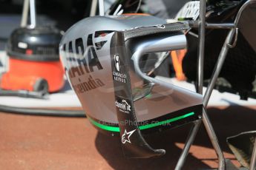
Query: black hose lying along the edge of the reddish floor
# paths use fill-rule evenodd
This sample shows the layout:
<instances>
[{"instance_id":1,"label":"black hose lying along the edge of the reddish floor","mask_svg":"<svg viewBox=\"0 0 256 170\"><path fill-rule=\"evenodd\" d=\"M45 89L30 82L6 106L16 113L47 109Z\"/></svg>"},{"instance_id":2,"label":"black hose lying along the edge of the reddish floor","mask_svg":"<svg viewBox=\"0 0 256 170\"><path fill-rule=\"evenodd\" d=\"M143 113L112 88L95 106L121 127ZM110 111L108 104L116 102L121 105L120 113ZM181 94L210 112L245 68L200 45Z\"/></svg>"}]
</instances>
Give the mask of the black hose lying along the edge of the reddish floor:
<instances>
[{"instance_id":1,"label":"black hose lying along the edge of the reddish floor","mask_svg":"<svg viewBox=\"0 0 256 170\"><path fill-rule=\"evenodd\" d=\"M0 105L0 112L16 115L86 118L85 112L83 110L32 109Z\"/></svg>"}]
</instances>

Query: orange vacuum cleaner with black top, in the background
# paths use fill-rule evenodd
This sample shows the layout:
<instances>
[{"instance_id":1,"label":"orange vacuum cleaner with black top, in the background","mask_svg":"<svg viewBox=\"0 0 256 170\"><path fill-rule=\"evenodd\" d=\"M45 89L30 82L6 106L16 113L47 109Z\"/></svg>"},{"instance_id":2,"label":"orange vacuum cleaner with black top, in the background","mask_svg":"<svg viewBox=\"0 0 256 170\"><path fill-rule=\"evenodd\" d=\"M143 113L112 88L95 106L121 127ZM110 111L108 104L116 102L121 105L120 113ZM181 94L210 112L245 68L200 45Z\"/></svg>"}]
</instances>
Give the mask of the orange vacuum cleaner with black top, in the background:
<instances>
[{"instance_id":1,"label":"orange vacuum cleaner with black top, in the background","mask_svg":"<svg viewBox=\"0 0 256 170\"><path fill-rule=\"evenodd\" d=\"M65 81L59 60L61 38L61 32L54 27L30 25L14 30L7 43L9 63L7 72L1 75L0 92L10 95L13 92L40 92L42 95L62 89Z\"/></svg>"}]
</instances>

